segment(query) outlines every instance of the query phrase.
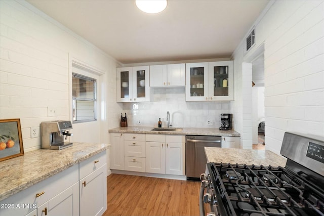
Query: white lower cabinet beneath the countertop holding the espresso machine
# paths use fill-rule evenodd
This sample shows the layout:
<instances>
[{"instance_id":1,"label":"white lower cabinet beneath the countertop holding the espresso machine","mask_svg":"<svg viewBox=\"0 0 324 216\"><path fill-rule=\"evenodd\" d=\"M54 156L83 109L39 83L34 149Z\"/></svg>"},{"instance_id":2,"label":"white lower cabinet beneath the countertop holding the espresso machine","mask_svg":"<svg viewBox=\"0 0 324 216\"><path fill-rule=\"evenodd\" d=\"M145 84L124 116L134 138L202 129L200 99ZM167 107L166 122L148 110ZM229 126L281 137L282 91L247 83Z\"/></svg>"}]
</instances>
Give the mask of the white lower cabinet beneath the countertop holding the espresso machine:
<instances>
[{"instance_id":1,"label":"white lower cabinet beneath the countertop holding the espresso machine","mask_svg":"<svg viewBox=\"0 0 324 216\"><path fill-rule=\"evenodd\" d=\"M2 200L0 215L102 215L107 209L106 167L103 151Z\"/></svg>"}]
</instances>

